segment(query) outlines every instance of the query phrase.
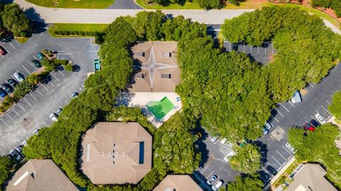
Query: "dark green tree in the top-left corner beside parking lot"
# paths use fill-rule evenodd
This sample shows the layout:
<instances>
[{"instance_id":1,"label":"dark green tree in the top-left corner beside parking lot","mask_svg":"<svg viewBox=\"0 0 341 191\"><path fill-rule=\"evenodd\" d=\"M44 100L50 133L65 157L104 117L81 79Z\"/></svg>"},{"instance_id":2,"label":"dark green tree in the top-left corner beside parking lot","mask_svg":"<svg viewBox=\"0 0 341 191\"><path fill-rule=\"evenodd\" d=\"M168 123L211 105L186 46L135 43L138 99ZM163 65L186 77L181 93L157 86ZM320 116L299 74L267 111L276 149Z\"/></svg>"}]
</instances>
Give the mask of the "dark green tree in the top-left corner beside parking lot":
<instances>
[{"instance_id":1,"label":"dark green tree in the top-left corner beside parking lot","mask_svg":"<svg viewBox=\"0 0 341 191\"><path fill-rule=\"evenodd\" d=\"M31 31L30 21L18 4L6 4L1 18L4 27L11 31L14 36L19 36L24 31Z\"/></svg>"}]
</instances>

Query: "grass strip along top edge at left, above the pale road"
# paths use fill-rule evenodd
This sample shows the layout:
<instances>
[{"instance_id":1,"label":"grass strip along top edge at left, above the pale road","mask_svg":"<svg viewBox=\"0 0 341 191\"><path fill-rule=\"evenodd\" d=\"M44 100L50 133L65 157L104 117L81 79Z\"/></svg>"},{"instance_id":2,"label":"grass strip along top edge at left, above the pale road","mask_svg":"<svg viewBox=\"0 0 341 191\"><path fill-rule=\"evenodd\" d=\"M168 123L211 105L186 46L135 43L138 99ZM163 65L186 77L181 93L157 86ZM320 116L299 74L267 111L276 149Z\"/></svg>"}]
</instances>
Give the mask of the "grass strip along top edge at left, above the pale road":
<instances>
[{"instance_id":1,"label":"grass strip along top edge at left, above the pale road","mask_svg":"<svg viewBox=\"0 0 341 191\"><path fill-rule=\"evenodd\" d=\"M114 4L114 0L26 0L39 6L55 8L104 9Z\"/></svg>"}]
</instances>

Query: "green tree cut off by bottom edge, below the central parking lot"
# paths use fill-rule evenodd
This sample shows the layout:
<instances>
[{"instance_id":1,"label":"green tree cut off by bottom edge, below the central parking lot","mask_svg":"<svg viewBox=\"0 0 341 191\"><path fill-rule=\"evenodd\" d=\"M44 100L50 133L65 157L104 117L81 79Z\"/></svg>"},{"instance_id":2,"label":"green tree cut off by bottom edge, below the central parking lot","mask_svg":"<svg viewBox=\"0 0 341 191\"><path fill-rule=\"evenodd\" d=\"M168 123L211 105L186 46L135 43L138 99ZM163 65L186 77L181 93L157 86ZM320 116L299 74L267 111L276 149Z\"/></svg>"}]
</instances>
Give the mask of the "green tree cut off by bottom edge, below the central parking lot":
<instances>
[{"instance_id":1,"label":"green tree cut off by bottom edge, below the central parking lot","mask_svg":"<svg viewBox=\"0 0 341 191\"><path fill-rule=\"evenodd\" d=\"M234 182L227 184L228 191L261 191L263 190L263 182L259 178L259 174L237 176Z\"/></svg>"}]
</instances>

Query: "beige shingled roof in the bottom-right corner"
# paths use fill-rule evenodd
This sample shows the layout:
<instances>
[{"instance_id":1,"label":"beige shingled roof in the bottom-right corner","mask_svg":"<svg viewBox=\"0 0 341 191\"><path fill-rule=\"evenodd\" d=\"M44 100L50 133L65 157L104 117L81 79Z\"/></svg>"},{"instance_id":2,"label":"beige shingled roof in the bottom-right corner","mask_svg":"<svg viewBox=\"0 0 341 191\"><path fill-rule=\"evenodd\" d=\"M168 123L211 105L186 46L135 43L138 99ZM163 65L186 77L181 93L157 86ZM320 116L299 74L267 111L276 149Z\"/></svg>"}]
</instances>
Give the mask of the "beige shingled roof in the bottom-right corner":
<instances>
[{"instance_id":1,"label":"beige shingled roof in the bottom-right corner","mask_svg":"<svg viewBox=\"0 0 341 191\"><path fill-rule=\"evenodd\" d=\"M305 164L293 176L287 191L313 190L313 191L337 191L328 180L325 179L326 171L317 164Z\"/></svg>"}]
</instances>

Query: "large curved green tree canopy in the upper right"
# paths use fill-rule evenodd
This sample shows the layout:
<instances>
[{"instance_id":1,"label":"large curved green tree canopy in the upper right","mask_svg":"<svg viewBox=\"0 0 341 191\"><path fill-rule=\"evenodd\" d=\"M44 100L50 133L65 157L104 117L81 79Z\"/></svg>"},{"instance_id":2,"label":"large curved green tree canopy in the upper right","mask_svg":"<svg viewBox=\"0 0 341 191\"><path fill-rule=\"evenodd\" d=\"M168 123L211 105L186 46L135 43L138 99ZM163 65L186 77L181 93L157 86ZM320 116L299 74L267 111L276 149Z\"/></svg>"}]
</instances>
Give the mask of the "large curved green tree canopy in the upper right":
<instances>
[{"instance_id":1,"label":"large curved green tree canopy in the upper right","mask_svg":"<svg viewBox=\"0 0 341 191\"><path fill-rule=\"evenodd\" d=\"M261 45L272 40L276 55L266 70L274 102L286 101L305 84L318 83L340 58L341 37L301 9L271 6L243 13L225 20L222 34L232 43Z\"/></svg>"}]
</instances>

